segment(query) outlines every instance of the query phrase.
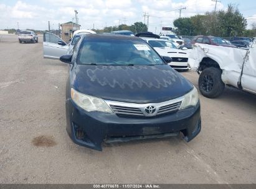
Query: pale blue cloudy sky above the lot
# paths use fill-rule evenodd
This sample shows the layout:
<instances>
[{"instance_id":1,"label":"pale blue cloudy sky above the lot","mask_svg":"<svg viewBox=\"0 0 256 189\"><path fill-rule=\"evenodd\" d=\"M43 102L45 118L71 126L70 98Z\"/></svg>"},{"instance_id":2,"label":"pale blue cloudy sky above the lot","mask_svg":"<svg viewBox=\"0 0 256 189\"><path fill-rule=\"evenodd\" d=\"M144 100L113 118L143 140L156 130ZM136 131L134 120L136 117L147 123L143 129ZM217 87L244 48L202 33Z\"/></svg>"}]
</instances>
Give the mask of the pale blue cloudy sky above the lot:
<instances>
[{"instance_id":1,"label":"pale blue cloudy sky above the lot","mask_svg":"<svg viewBox=\"0 0 256 189\"><path fill-rule=\"evenodd\" d=\"M255 0L221 0L217 10L235 4L247 17L248 26L256 22ZM0 29L58 29L59 23L72 21L78 12L81 29L103 29L105 26L144 22L144 12L149 14L149 31L159 33L162 27L172 27L179 17L178 9L186 7L181 17L213 11L214 0L0 0Z\"/></svg>"}]
</instances>

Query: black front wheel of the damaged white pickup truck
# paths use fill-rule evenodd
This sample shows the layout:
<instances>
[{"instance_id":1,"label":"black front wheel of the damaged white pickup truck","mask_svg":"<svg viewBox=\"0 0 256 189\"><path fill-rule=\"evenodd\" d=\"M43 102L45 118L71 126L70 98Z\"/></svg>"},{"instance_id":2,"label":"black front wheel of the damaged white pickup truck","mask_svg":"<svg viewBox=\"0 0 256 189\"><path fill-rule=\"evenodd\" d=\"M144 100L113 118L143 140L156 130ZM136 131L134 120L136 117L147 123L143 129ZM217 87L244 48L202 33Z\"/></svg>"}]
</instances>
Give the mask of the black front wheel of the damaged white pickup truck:
<instances>
[{"instance_id":1,"label":"black front wheel of the damaged white pickup truck","mask_svg":"<svg viewBox=\"0 0 256 189\"><path fill-rule=\"evenodd\" d=\"M225 88L220 69L214 67L204 69L199 76L198 86L202 95L207 98L220 96Z\"/></svg>"}]
</instances>

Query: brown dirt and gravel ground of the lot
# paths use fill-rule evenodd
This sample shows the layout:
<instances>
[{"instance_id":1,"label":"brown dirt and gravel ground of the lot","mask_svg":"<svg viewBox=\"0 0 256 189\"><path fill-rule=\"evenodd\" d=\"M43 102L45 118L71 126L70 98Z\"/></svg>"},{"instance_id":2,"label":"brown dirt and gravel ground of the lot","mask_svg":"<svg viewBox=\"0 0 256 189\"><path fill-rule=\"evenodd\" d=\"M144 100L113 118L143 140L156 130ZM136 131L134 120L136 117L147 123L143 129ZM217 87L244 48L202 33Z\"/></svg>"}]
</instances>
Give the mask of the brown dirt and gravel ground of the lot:
<instances>
[{"instance_id":1,"label":"brown dirt and gravel ground of the lot","mask_svg":"<svg viewBox=\"0 0 256 189\"><path fill-rule=\"evenodd\" d=\"M38 44L0 36L0 183L256 183L256 95L200 95L202 131L107 145L73 144L65 131L67 65ZM182 72L195 86L198 75Z\"/></svg>"}]
</instances>

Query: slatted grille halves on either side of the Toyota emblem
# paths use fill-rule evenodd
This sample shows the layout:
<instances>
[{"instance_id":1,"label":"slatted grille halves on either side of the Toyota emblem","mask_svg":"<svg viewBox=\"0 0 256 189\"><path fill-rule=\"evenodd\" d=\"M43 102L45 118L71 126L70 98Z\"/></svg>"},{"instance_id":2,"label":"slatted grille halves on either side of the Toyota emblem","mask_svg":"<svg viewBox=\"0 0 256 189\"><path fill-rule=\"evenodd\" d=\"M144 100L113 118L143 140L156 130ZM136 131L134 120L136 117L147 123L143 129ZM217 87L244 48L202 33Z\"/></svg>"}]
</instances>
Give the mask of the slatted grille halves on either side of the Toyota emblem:
<instances>
[{"instance_id":1,"label":"slatted grille halves on either side of the Toyota emblem","mask_svg":"<svg viewBox=\"0 0 256 189\"><path fill-rule=\"evenodd\" d=\"M181 101L160 106L158 107L158 113L156 113L155 116L161 115L161 114L174 113L175 111L179 110L180 106L181 106ZM131 108L126 106L116 106L116 105L110 105L110 107L117 115L145 116L145 114L143 113L144 108Z\"/></svg>"}]
</instances>

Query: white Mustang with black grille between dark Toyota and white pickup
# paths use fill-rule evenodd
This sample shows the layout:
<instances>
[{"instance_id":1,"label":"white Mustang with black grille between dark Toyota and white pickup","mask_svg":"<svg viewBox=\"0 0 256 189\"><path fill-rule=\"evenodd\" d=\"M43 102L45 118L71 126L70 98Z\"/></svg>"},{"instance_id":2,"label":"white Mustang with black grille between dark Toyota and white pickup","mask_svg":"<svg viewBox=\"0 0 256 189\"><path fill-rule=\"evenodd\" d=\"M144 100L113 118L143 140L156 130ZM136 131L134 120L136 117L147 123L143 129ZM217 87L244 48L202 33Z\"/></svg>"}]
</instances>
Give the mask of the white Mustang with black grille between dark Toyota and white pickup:
<instances>
[{"instance_id":1,"label":"white Mustang with black grille between dark Toyota and white pickup","mask_svg":"<svg viewBox=\"0 0 256 189\"><path fill-rule=\"evenodd\" d=\"M152 37L140 37L148 42L162 57L171 57L173 61L168 63L175 70L188 70L188 55L184 50L179 50L168 40L154 39Z\"/></svg>"}]
</instances>

